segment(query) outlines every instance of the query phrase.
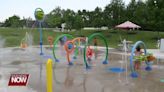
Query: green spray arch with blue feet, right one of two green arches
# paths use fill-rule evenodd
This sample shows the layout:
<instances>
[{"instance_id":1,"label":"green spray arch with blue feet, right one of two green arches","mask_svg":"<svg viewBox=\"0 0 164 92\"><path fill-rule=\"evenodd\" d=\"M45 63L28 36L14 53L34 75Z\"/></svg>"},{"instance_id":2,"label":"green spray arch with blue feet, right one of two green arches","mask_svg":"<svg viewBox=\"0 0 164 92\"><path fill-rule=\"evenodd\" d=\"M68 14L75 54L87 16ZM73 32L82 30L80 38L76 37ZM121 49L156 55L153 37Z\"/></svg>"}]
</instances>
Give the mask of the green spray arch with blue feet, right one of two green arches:
<instances>
[{"instance_id":1,"label":"green spray arch with blue feet, right one of two green arches","mask_svg":"<svg viewBox=\"0 0 164 92\"><path fill-rule=\"evenodd\" d=\"M87 62L87 55L86 55L87 54L87 47L88 47L88 44L90 43L90 41L96 36L100 37L104 41L104 44L106 46L106 56L105 56L105 59L103 61L103 64L108 64L108 44L107 44L107 41L106 41L105 37L102 34L94 33L94 34L92 34L88 37L88 40L86 41L86 45L85 45L85 48L84 48L84 63L86 65L86 69L91 68L91 65L89 65L89 63Z\"/></svg>"}]
</instances>

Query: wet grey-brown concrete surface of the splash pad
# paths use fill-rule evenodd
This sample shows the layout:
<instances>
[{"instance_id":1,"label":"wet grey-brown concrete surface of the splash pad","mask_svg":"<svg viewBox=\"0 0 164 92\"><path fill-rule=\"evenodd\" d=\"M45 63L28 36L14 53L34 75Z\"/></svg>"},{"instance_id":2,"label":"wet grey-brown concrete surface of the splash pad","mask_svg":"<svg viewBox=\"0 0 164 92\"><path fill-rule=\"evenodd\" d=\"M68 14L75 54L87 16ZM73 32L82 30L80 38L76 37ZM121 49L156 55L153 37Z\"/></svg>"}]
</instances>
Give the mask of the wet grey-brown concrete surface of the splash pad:
<instances>
[{"instance_id":1,"label":"wet grey-brown concrete surface of the splash pad","mask_svg":"<svg viewBox=\"0 0 164 92\"><path fill-rule=\"evenodd\" d=\"M51 56L52 50L45 49L45 53ZM0 92L46 92L47 58L39 55L39 48L3 48L0 54ZM109 67L120 67L120 63L125 68L122 56L111 54L110 51L108 65L96 61L88 71L83 65L82 56L71 67L66 62L59 62L53 68L53 92L163 92L164 83L161 80L164 79L164 60L160 61L160 65L154 63L150 72L141 69L141 76L137 79L129 76L128 67L128 80L125 72L107 71ZM9 77L13 73L29 73L28 85L9 87Z\"/></svg>"}]
</instances>

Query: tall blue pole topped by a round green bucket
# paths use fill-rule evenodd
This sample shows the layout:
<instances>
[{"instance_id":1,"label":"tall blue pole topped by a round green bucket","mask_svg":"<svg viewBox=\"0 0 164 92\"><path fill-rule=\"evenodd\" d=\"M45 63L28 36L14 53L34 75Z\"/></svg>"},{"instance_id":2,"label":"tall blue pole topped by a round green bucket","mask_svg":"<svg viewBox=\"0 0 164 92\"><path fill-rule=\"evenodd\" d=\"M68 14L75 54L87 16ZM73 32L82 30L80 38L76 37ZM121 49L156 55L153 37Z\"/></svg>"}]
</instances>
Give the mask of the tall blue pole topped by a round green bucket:
<instances>
[{"instance_id":1,"label":"tall blue pole topped by a round green bucket","mask_svg":"<svg viewBox=\"0 0 164 92\"><path fill-rule=\"evenodd\" d=\"M40 32L40 55L43 55L42 51L42 45L43 45L43 39L42 39L42 22L44 19L44 11L41 8L36 8L35 12L35 19L39 22L39 32Z\"/></svg>"}]
</instances>

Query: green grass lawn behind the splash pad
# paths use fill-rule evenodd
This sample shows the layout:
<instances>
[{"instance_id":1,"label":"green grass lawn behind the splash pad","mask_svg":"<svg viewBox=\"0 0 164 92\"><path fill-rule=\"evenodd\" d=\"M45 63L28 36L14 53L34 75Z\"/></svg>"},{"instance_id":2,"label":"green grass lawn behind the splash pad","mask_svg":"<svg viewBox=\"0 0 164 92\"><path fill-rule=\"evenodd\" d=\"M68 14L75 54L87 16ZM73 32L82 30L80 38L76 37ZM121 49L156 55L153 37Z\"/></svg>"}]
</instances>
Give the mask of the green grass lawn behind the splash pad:
<instances>
[{"instance_id":1,"label":"green grass lawn behind the splash pad","mask_svg":"<svg viewBox=\"0 0 164 92\"><path fill-rule=\"evenodd\" d=\"M33 45L39 44L39 31L37 29L18 29L18 28L0 28L0 36L5 39L5 47L19 46L21 40L25 36L25 33L31 33L33 36ZM77 37L80 34L83 36L89 36L93 33L101 33L106 38L109 47L117 48L121 39L127 39L134 43L138 40L144 41L147 48L156 48L157 32L150 31L137 31L136 33L127 33L122 30L106 30L106 31L93 31L93 30L81 30L74 32L53 32L52 30L43 30L43 44L48 44L48 36L52 36L54 39L61 34L67 33ZM164 38L164 32L160 32L160 37ZM99 41L101 44L101 41ZM101 44L102 45L102 44Z\"/></svg>"}]
</instances>

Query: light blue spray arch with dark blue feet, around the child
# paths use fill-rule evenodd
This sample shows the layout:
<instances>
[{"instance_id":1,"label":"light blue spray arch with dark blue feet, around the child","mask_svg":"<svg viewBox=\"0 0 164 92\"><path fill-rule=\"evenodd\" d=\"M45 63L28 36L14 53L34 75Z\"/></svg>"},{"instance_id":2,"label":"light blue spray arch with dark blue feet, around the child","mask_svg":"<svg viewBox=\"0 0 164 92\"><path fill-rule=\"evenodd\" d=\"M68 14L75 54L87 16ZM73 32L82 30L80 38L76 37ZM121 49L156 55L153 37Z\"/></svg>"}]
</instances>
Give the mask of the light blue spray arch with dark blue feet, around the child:
<instances>
[{"instance_id":1,"label":"light blue spray arch with dark blue feet, around the child","mask_svg":"<svg viewBox=\"0 0 164 92\"><path fill-rule=\"evenodd\" d=\"M138 41L135 43L135 45L133 46L132 48L132 51L131 51L131 56L130 56L130 69L131 69L131 77L132 78L137 78L138 77L138 73L136 72L136 70L134 69L134 60L135 60L135 56L134 56L134 52L136 50L136 48L139 46L139 45L142 45L144 47L144 56L141 57L140 60L144 60L145 63L146 63L146 68L145 70L146 71L151 71L152 68L150 66L150 63L148 62L147 60L147 50L146 50L146 45L143 41Z\"/></svg>"}]
</instances>

